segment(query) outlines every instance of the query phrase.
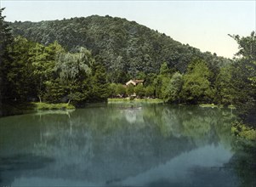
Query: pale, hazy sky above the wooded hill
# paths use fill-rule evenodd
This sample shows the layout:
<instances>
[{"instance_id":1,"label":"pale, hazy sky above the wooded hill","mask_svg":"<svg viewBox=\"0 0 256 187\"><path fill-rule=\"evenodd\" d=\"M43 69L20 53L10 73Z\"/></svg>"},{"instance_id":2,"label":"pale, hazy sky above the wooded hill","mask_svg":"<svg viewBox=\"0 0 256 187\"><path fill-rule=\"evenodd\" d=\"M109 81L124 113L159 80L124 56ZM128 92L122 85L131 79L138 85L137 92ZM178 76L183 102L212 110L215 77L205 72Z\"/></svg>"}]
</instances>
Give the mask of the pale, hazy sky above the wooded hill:
<instances>
[{"instance_id":1,"label":"pale, hazy sky above the wooded hill","mask_svg":"<svg viewBox=\"0 0 256 187\"><path fill-rule=\"evenodd\" d=\"M256 31L256 0L92 1L0 0L8 21L62 20L92 14L126 18L184 44L233 58L238 45L228 34Z\"/></svg>"}]
</instances>

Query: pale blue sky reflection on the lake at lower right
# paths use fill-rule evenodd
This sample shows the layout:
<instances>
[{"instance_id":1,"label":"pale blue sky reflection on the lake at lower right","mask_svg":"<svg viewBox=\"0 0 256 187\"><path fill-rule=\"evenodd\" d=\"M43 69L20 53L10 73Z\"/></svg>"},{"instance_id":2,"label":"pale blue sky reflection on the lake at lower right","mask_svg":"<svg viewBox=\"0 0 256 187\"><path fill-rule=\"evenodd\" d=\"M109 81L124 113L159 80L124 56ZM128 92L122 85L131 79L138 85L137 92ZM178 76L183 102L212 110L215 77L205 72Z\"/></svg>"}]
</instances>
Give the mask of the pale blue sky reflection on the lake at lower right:
<instances>
[{"instance_id":1,"label":"pale blue sky reflection on the lake at lower right","mask_svg":"<svg viewBox=\"0 0 256 187\"><path fill-rule=\"evenodd\" d=\"M145 173L139 173L139 175L131 178L127 178L121 185L125 186L151 186L153 184L169 185L178 184L178 186L202 186L200 183L204 183L203 186L213 185L208 180L205 181L205 177L213 177L213 173L218 173L219 167L222 164L229 161L232 154L229 150L225 150L222 145L214 146L213 144L207 145L201 148L196 148L189 152L184 152L179 156L174 157L170 161L160 164L157 167L153 167ZM191 161L192 160L192 161ZM197 179L195 173L204 171L204 178ZM222 173L223 174L223 173ZM214 178L215 179L215 178ZM222 186L222 181L216 181L216 186ZM236 184L235 181L228 181L230 184Z\"/></svg>"}]
</instances>

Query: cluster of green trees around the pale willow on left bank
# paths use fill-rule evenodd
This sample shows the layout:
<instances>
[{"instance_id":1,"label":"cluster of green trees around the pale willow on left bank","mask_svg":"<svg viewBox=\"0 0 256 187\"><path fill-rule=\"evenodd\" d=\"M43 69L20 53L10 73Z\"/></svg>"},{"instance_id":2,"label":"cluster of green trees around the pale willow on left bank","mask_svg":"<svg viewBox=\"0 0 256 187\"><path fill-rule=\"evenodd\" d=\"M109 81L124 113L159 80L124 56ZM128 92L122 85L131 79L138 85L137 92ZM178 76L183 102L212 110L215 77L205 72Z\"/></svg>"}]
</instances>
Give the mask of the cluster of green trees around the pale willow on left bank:
<instances>
[{"instance_id":1,"label":"cluster of green trees around the pale willow on left bank","mask_svg":"<svg viewBox=\"0 0 256 187\"><path fill-rule=\"evenodd\" d=\"M96 65L86 48L66 53L58 42L43 46L16 37L9 46L10 59L3 65L9 100L37 100L75 105L105 100L108 96L105 69Z\"/></svg>"}]
</instances>

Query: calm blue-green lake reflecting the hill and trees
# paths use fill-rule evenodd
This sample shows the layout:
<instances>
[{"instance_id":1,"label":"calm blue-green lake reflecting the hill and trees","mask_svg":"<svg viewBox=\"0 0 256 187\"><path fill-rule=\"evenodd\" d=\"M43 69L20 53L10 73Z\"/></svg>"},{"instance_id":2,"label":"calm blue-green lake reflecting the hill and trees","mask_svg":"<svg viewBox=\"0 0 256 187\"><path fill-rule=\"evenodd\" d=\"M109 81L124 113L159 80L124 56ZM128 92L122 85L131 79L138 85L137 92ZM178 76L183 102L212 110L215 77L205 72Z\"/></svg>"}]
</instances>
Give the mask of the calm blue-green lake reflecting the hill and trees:
<instances>
[{"instance_id":1,"label":"calm blue-green lake reflecting the hill and trees","mask_svg":"<svg viewBox=\"0 0 256 187\"><path fill-rule=\"evenodd\" d=\"M131 108L133 105L133 108ZM54 112L54 113L53 113ZM239 186L230 109L89 105L0 118L0 186Z\"/></svg>"}]
</instances>

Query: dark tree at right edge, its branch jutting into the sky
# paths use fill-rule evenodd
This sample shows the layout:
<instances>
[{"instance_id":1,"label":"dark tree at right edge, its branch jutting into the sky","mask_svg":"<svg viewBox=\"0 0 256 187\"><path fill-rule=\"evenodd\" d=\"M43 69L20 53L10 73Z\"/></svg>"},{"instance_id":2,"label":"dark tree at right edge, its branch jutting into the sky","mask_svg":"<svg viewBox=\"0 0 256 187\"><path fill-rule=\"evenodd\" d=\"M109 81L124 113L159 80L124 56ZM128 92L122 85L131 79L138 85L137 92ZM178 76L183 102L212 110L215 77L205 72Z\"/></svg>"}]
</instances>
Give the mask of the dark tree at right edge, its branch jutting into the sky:
<instances>
[{"instance_id":1,"label":"dark tree at right edge, its branch jutting into the sky","mask_svg":"<svg viewBox=\"0 0 256 187\"><path fill-rule=\"evenodd\" d=\"M234 70L232 71L232 82L238 92L234 94L235 105L238 106L245 118L255 116L256 100L256 34L251 32L248 37L233 37L239 45ZM253 124L255 125L255 124Z\"/></svg>"}]
</instances>

